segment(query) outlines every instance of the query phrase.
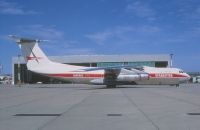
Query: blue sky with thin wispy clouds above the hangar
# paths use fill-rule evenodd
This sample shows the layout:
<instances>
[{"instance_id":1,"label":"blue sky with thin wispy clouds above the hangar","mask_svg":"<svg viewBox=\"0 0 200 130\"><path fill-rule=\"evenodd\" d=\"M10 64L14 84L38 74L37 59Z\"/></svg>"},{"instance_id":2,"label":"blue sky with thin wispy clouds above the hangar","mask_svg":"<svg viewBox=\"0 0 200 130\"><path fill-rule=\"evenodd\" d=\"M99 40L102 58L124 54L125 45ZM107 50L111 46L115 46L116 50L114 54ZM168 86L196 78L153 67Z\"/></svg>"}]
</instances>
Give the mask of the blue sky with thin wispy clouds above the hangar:
<instances>
[{"instance_id":1,"label":"blue sky with thin wispy clouds above the hangar","mask_svg":"<svg viewBox=\"0 0 200 130\"><path fill-rule=\"evenodd\" d=\"M9 34L50 40L47 55L174 54L200 71L199 0L0 0L0 63L20 54Z\"/></svg>"}]
</instances>

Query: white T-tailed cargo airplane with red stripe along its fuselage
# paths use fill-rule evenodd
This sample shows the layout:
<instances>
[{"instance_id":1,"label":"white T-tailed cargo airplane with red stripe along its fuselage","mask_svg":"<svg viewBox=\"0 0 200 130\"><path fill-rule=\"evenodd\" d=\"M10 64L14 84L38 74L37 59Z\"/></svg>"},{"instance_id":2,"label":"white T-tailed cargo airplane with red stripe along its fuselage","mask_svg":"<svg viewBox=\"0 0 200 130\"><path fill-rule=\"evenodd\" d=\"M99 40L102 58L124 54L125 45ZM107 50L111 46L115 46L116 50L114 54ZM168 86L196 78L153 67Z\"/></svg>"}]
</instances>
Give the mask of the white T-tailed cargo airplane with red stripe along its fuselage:
<instances>
[{"instance_id":1,"label":"white T-tailed cargo airplane with red stripe along its fuselage","mask_svg":"<svg viewBox=\"0 0 200 130\"><path fill-rule=\"evenodd\" d=\"M53 62L40 49L38 43L45 40L21 38L9 35L19 45L28 70L51 78L80 84L106 85L176 85L186 82L190 76L178 68L143 66L83 67Z\"/></svg>"}]
</instances>

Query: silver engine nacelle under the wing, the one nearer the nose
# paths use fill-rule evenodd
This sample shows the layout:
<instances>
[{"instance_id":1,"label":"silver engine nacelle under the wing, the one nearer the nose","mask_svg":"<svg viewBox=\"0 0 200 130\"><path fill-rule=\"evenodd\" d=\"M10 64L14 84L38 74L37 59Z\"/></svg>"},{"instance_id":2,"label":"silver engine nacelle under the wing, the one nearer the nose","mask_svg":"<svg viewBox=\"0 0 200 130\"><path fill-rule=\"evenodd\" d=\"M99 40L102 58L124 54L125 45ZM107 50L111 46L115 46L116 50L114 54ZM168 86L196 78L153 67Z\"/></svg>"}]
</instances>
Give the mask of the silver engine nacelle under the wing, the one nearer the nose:
<instances>
[{"instance_id":1,"label":"silver engine nacelle under the wing, the one nearer the nose","mask_svg":"<svg viewBox=\"0 0 200 130\"><path fill-rule=\"evenodd\" d=\"M132 75L119 75L117 77L117 81L138 81L138 80L148 80L149 75L148 74L132 74Z\"/></svg>"}]
</instances>

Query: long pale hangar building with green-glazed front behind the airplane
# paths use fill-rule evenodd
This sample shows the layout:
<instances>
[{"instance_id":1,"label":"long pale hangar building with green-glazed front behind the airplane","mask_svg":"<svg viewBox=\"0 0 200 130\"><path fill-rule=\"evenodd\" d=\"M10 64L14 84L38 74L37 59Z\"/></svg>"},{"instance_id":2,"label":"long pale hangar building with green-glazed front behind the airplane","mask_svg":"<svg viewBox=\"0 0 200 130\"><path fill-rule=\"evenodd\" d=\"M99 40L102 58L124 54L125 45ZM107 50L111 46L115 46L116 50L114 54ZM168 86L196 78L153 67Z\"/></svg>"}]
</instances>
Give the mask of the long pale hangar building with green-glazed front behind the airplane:
<instances>
[{"instance_id":1,"label":"long pale hangar building with green-glazed front behind the airplane","mask_svg":"<svg viewBox=\"0 0 200 130\"><path fill-rule=\"evenodd\" d=\"M169 67L170 55L68 55L68 56L49 56L49 59L64 64L87 66L87 67L107 67L130 65L134 67ZM20 78L18 77L20 76ZM26 62L23 57L12 58L12 83L24 84L33 83L63 83L27 70Z\"/></svg>"}]
</instances>

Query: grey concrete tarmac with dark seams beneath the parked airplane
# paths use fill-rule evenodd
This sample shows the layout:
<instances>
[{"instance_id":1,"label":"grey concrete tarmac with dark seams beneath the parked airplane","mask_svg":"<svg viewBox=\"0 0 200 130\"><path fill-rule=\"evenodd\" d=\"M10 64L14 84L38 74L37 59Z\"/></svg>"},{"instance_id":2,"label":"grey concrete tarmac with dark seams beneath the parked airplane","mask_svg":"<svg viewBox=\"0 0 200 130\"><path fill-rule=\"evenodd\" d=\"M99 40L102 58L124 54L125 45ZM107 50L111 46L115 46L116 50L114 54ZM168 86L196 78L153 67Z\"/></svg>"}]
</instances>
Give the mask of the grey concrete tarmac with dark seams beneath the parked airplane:
<instances>
[{"instance_id":1,"label":"grey concrete tarmac with dark seams beneath the parked airplane","mask_svg":"<svg viewBox=\"0 0 200 130\"><path fill-rule=\"evenodd\" d=\"M200 84L0 85L0 130L199 130Z\"/></svg>"}]
</instances>

